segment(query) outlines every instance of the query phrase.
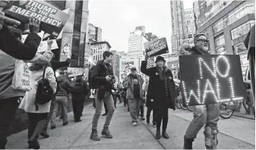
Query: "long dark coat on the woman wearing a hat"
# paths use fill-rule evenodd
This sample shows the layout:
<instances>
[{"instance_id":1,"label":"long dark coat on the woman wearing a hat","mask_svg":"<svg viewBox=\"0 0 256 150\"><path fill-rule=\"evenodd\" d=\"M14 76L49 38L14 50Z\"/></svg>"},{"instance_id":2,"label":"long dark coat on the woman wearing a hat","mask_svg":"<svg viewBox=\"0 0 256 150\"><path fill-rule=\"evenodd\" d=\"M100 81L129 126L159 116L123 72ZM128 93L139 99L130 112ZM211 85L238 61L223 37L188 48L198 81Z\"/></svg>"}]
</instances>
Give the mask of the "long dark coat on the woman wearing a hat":
<instances>
[{"instance_id":1,"label":"long dark coat on the woman wearing a hat","mask_svg":"<svg viewBox=\"0 0 256 150\"><path fill-rule=\"evenodd\" d=\"M172 71L166 70L167 82L169 85L170 97L166 98L164 82L160 80L160 75L157 73L156 67L147 69L147 61L141 62L141 72L150 77L149 85L147 89L147 102L148 108L161 109L172 108L175 110L175 84L172 79Z\"/></svg>"}]
</instances>

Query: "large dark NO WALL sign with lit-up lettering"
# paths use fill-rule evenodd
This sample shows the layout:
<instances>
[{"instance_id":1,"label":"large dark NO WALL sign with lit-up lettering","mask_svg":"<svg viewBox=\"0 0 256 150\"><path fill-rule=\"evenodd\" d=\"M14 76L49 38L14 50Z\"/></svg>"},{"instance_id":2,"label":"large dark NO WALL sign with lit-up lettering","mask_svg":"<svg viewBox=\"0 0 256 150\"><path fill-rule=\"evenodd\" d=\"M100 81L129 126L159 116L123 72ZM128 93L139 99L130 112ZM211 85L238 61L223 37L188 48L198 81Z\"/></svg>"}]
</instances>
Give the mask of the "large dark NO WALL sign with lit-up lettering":
<instances>
[{"instance_id":1,"label":"large dark NO WALL sign with lit-up lettering","mask_svg":"<svg viewBox=\"0 0 256 150\"><path fill-rule=\"evenodd\" d=\"M179 56L183 104L241 101L245 86L239 55Z\"/></svg>"}]
</instances>

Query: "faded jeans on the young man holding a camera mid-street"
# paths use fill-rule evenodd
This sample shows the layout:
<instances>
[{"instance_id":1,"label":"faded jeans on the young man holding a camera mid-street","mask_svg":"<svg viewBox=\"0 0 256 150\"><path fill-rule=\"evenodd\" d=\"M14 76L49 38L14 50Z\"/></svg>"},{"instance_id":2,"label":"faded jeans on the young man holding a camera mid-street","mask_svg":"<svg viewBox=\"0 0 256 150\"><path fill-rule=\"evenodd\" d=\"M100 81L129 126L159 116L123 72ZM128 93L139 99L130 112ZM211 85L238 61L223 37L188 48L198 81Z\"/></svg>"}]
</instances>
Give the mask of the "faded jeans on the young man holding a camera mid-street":
<instances>
[{"instance_id":1,"label":"faded jeans on the young man holding a camera mid-street","mask_svg":"<svg viewBox=\"0 0 256 150\"><path fill-rule=\"evenodd\" d=\"M95 95L96 110L93 116L92 130L97 130L100 114L103 109L103 101L106 102L106 107L108 108L108 114L106 115L104 128L109 128L110 121L115 111L114 101L113 101L111 92L105 92L104 99L99 99L98 91L99 89L96 89L96 95Z\"/></svg>"}]
</instances>

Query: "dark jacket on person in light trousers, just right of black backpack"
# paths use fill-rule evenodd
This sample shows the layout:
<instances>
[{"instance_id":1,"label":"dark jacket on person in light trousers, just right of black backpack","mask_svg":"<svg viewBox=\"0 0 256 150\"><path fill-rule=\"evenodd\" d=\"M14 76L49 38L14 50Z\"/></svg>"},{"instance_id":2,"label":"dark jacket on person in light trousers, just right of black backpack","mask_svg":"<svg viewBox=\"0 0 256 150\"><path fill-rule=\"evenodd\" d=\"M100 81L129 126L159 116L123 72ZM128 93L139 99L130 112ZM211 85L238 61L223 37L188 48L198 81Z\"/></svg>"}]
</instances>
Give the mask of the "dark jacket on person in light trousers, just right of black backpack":
<instances>
[{"instance_id":1,"label":"dark jacket on person in light trousers, just right of black backpack","mask_svg":"<svg viewBox=\"0 0 256 150\"><path fill-rule=\"evenodd\" d=\"M58 82L58 92L56 96L67 96L68 97L68 91L71 89L73 86L72 84L66 79L64 76L60 75L57 77L57 82Z\"/></svg>"}]
</instances>

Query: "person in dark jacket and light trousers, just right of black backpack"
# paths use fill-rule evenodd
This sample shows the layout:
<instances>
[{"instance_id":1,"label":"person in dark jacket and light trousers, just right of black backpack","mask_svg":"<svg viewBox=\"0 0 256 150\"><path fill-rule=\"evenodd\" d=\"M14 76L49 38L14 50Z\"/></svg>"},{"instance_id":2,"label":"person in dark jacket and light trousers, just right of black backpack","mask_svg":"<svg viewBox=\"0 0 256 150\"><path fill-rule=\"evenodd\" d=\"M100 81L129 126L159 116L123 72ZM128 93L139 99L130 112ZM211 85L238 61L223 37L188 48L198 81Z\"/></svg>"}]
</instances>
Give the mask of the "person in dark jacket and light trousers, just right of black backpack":
<instances>
[{"instance_id":1,"label":"person in dark jacket and light trousers, just right of black backpack","mask_svg":"<svg viewBox=\"0 0 256 150\"><path fill-rule=\"evenodd\" d=\"M51 120L51 129L56 128L55 120L56 114L58 112L58 105L62 106L63 113L63 126L68 125L68 90L73 88L74 86L66 79L64 71L59 72L58 80L58 92L56 93L55 98L55 108L52 114Z\"/></svg>"}]
</instances>

